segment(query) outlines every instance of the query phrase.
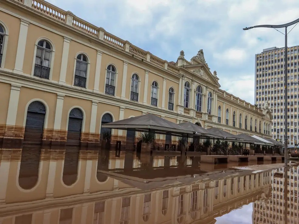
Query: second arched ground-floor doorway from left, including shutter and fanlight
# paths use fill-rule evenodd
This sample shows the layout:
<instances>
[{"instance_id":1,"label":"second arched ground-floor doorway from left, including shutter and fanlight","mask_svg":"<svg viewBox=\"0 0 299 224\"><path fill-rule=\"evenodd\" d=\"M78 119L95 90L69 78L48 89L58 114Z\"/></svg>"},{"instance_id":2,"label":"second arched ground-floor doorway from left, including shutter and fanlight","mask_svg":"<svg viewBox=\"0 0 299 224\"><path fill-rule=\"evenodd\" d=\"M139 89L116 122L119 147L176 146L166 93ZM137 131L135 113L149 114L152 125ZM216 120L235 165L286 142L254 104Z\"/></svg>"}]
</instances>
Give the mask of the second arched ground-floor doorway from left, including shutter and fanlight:
<instances>
[{"instance_id":1,"label":"second arched ground-floor doorway from left, including shutter and fanlight","mask_svg":"<svg viewBox=\"0 0 299 224\"><path fill-rule=\"evenodd\" d=\"M79 146L81 141L81 131L83 123L83 113L79 108L70 111L67 126L67 145Z\"/></svg>"}]
</instances>

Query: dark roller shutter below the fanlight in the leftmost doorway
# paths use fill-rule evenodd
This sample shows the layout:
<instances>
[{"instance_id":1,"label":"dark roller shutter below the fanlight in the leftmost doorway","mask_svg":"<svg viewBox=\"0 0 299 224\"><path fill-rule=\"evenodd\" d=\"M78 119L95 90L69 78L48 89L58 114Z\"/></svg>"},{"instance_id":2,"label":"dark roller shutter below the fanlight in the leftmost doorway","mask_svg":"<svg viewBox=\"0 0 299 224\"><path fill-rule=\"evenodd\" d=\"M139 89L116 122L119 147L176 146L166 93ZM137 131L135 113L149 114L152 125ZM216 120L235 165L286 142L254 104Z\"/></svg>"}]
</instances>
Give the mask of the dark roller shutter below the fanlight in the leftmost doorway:
<instances>
[{"instance_id":1,"label":"dark roller shutter below the fanlight in the leftmost doorway","mask_svg":"<svg viewBox=\"0 0 299 224\"><path fill-rule=\"evenodd\" d=\"M45 114L27 112L26 126L24 133L25 144L41 144L43 140L43 126Z\"/></svg>"}]
</instances>

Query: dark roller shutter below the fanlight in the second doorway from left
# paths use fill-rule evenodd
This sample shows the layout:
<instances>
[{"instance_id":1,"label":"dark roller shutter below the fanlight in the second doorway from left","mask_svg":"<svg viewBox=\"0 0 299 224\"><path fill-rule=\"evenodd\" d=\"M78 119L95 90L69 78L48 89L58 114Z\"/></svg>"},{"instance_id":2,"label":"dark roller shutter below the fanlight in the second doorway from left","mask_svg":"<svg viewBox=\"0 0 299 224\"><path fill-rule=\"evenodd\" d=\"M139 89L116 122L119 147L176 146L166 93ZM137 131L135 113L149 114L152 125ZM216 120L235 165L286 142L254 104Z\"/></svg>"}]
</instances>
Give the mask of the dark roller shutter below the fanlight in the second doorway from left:
<instances>
[{"instance_id":1,"label":"dark roller shutter below the fanlight in the second doorway from left","mask_svg":"<svg viewBox=\"0 0 299 224\"><path fill-rule=\"evenodd\" d=\"M82 119L69 117L67 127L67 145L79 146L81 140Z\"/></svg>"}]
</instances>

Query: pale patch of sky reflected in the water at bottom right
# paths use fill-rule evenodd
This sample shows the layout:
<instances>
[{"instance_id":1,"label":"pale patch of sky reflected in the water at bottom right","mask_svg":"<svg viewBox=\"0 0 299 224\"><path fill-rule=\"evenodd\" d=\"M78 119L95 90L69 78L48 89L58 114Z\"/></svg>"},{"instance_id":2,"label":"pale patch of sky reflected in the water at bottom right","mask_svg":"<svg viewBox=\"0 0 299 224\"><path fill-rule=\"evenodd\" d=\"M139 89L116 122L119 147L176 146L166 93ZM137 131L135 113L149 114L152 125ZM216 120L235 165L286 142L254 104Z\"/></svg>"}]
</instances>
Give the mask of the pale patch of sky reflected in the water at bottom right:
<instances>
[{"instance_id":1,"label":"pale patch of sky reflected in the water at bottom right","mask_svg":"<svg viewBox=\"0 0 299 224\"><path fill-rule=\"evenodd\" d=\"M215 218L215 224L252 224L252 203Z\"/></svg>"}]
</instances>

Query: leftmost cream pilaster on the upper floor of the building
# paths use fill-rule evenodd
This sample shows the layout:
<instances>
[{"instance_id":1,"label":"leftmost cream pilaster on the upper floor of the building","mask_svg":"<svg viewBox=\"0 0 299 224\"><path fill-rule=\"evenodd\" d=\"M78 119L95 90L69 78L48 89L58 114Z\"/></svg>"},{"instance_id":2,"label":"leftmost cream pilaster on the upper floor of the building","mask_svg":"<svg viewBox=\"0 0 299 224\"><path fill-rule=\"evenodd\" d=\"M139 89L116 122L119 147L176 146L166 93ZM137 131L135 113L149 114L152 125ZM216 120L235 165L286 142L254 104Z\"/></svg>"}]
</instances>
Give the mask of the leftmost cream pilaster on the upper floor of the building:
<instances>
[{"instance_id":1,"label":"leftmost cream pilaster on the upper floor of the building","mask_svg":"<svg viewBox=\"0 0 299 224\"><path fill-rule=\"evenodd\" d=\"M29 22L21 19L17 54L15 57L15 68L13 70L16 73L23 73L23 63L24 63L24 56L25 56L28 25Z\"/></svg>"}]
</instances>

